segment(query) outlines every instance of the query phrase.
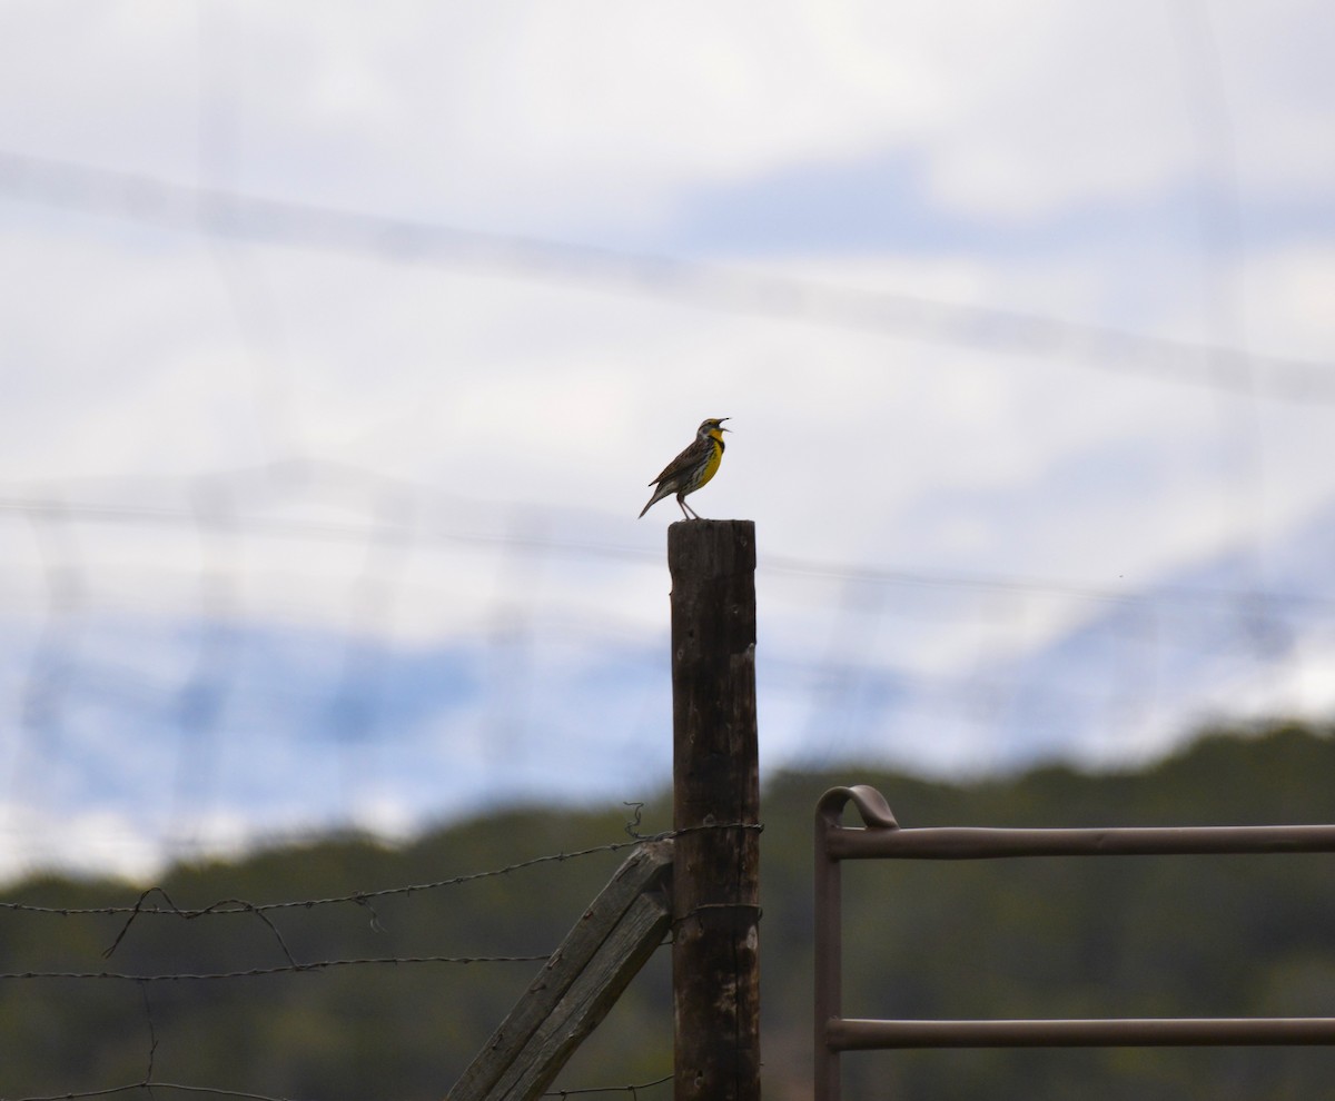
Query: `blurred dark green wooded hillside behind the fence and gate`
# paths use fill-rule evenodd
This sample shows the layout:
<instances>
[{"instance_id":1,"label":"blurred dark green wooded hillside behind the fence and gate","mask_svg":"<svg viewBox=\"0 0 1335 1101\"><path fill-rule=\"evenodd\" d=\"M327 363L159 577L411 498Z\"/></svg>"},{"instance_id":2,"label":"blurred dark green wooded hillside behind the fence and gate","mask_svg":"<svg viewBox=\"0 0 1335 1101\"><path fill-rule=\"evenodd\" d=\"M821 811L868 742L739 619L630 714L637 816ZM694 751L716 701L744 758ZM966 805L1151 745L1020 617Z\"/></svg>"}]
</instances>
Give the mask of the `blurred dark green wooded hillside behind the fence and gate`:
<instances>
[{"instance_id":1,"label":"blurred dark green wooded hillside behind the fence and gate","mask_svg":"<svg viewBox=\"0 0 1335 1101\"><path fill-rule=\"evenodd\" d=\"M932 783L856 767L780 774L764 799L762 1004L770 1097L809 1096L812 814L872 783L901 825L1193 825L1335 821L1335 738L1283 726L1216 731L1140 771L1051 766ZM666 829L666 799L642 833ZM402 847L340 837L235 863L178 867L180 907L350 895L626 841L622 809L513 810ZM370 905L136 918L0 910L0 972L214 973L302 962L546 954L626 850L374 898ZM845 871L845 1010L889 1017L1335 1016L1335 858L860 862ZM138 887L40 878L4 901L129 905ZM672 1069L668 953L631 984L558 1086ZM135 984L0 981L0 1097L143 1080L270 1096L439 1098L535 964L368 964L299 974ZM853 1053L849 1097L1181 1098L1327 1096L1323 1049ZM646 1094L655 1096L655 1094ZM662 1096L668 1096L663 1093Z\"/></svg>"}]
</instances>

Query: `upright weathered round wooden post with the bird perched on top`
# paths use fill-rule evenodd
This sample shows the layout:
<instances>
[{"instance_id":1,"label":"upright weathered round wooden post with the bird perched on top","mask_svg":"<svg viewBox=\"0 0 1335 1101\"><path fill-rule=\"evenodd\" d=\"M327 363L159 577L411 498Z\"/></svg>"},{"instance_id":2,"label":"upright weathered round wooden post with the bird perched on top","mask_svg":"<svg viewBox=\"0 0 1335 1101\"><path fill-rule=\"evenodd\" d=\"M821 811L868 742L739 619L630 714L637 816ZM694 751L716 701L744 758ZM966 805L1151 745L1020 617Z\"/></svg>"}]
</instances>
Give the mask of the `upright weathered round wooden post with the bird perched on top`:
<instances>
[{"instance_id":1,"label":"upright weathered round wooden post with the bird perched on top","mask_svg":"<svg viewBox=\"0 0 1335 1101\"><path fill-rule=\"evenodd\" d=\"M668 528L676 1101L760 1098L756 524Z\"/></svg>"}]
</instances>

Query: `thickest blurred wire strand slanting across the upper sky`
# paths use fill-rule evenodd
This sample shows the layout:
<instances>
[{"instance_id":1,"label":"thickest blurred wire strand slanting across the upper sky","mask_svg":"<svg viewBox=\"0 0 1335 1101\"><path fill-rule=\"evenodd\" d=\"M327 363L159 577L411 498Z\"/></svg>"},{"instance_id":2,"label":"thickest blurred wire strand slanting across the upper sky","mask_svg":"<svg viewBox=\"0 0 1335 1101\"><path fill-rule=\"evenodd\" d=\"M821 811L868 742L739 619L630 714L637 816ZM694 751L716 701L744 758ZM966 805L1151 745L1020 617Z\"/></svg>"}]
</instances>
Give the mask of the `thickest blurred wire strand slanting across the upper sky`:
<instances>
[{"instance_id":1,"label":"thickest blurred wire strand slanting across the upper sky","mask_svg":"<svg viewBox=\"0 0 1335 1101\"><path fill-rule=\"evenodd\" d=\"M489 275L586 284L729 314L1069 359L1100 370L1248 396L1335 403L1331 364L1149 336L1036 314L933 302L733 271L670 256L487 234L439 223L264 199L76 161L0 151L0 195L175 232L438 263Z\"/></svg>"}]
</instances>

